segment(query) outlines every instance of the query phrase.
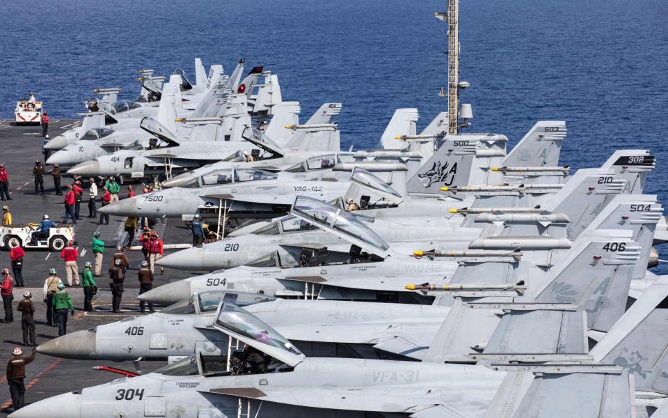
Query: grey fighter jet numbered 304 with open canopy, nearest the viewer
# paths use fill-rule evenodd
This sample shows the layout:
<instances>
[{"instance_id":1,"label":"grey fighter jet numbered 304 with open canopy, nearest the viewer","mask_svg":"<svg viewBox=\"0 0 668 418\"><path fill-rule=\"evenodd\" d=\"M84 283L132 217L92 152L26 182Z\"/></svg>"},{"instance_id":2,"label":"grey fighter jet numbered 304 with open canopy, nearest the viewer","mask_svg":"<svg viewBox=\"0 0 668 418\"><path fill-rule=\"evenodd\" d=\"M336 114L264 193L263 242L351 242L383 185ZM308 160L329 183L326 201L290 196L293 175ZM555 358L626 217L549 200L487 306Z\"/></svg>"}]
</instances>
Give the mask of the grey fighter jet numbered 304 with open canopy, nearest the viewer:
<instances>
[{"instance_id":1,"label":"grey fighter jet numbered 304 with open canopy, nearest the viewer","mask_svg":"<svg viewBox=\"0 0 668 418\"><path fill-rule=\"evenodd\" d=\"M558 317L562 320L552 320ZM632 416L630 399L635 387L626 377L628 372L619 366L588 361L582 326L584 311L568 311L552 304L550 309L510 312L504 318L509 318L506 322L512 322L514 327L500 325L495 331L496 338L489 346L505 344L505 347L500 353L488 353L485 358L494 359L491 363L456 364L440 358L392 362L307 357L257 316L221 302L210 329L244 345L243 350L234 350L227 359L198 353L145 376L121 378L33 403L15 412L13 417L30 417L47 411L56 411L56 417L97 417L102 405L111 415L136 417L170 416L177 411L181 417L193 418L205 413L221 417L314 413L325 417L356 417L360 412L416 418L491 417L504 410L506 416L524 417L540 408L536 403L546 398L543 391L550 389L550 394L555 390L563 394L575 385L576 393L596 393L583 390L582 384L587 383L598 388L606 386L608 394L613 387L623 389L619 394L624 395L621 396L624 401L608 398L605 391L602 397L595 396L598 401L593 405L594 416L611 413ZM549 342L536 338L537 327L543 335L553 338ZM447 330L439 331L445 333ZM508 344L510 337L524 344ZM520 350L516 350L518 346ZM531 353L541 359L540 365L527 362L527 349L538 350ZM533 372L540 376L534 376ZM582 376L586 377L573 380L572 376L580 374L571 376L571 372L584 373ZM559 380L564 376L571 379ZM614 376L624 377L617 382ZM622 382L626 383L621 385ZM534 386L543 384L550 387ZM543 395L536 396L536 391ZM550 412L559 412L552 416L581 411L582 405L578 402L573 405L570 399L550 405L553 407Z\"/></svg>"}]
</instances>

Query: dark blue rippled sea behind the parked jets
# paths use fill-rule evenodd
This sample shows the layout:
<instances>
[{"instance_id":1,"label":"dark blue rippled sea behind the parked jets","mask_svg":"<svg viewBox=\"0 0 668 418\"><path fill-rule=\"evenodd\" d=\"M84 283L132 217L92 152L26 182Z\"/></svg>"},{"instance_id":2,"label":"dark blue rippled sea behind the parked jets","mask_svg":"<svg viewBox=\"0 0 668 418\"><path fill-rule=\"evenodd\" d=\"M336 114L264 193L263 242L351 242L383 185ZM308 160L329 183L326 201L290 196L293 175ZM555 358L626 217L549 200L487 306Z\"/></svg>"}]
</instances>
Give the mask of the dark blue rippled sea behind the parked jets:
<instances>
[{"instance_id":1,"label":"dark blue rippled sea behind the parked jets","mask_svg":"<svg viewBox=\"0 0 668 418\"><path fill-rule=\"evenodd\" d=\"M84 111L92 88L138 93L136 70L192 75L193 58L231 71L245 58L278 74L303 120L338 101L345 148L375 146L397 107L420 127L445 99L445 0L55 1L3 4L0 116L29 91L56 118ZM646 192L666 204L668 2L461 0L461 78L473 130L514 144L540 119L568 123L562 162L602 164L649 148ZM194 78L194 77L192 77Z\"/></svg>"}]
</instances>

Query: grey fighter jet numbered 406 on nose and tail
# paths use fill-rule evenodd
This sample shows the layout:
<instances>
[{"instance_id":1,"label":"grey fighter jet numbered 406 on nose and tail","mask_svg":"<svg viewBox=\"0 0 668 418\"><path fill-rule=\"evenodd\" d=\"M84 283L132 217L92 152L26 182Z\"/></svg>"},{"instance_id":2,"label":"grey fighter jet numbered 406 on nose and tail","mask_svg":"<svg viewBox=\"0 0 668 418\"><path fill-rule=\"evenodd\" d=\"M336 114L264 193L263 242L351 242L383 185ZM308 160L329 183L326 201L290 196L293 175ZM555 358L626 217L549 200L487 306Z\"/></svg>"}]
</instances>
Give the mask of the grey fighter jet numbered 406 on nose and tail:
<instances>
[{"instance_id":1,"label":"grey fighter jet numbered 406 on nose and tail","mask_svg":"<svg viewBox=\"0 0 668 418\"><path fill-rule=\"evenodd\" d=\"M58 357L116 361L134 360L139 357L151 359L182 356L197 351L224 354L228 341L210 328L214 320L215 307L218 302L224 300L246 307L250 314L294 341L302 352L312 353L310 355L318 355L319 352L329 353L328 355L336 353L337 357L375 358L383 357L383 353L396 353L422 359L427 355L434 336L450 313L452 302L443 297L450 288L452 288L451 294L475 298L478 302L486 295L503 297L511 295L515 297L515 303L526 304L544 301L546 297L556 298L553 302L568 300L572 304L584 305L589 309L590 329L607 330L609 325L605 323L612 325L626 307L626 297L623 295L628 293L634 271L642 270L644 273L646 270L647 254L640 253L649 254L651 235L657 219L657 217L646 219L645 212L631 211L632 206L652 204L649 203L651 196L647 198L633 196L635 197L633 200L621 199L622 197L627 196L619 196L616 199L617 210L592 228L591 233L584 233L565 254L558 257L556 254L550 255L554 265L550 268L544 267L543 272L540 269L532 272L534 264L532 262L523 261L519 265L520 254L509 253L501 256L494 251L486 251L488 254L481 252L477 255L473 251L468 257L465 254L459 254L459 257L450 254L450 258L459 261L450 284L442 286L440 290L438 285L431 283L417 286L425 293L430 292L438 296L431 307L340 300L304 300L302 297L274 300L268 295L232 290L232 286L225 288L228 277L225 273L221 273L218 276L208 277L206 284L207 288L225 288L225 290L195 292L191 297L157 314L126 319L119 323L100 325L95 330L70 334L42 344L39 350L40 353ZM618 224L620 217L627 217L622 225ZM609 226L617 226L617 231L631 226L635 229L632 236L636 235L642 241L634 241L637 245L631 245L628 238L623 238L623 235L626 235L624 231L615 236L612 230L606 229ZM647 238L649 245L645 245ZM620 250L621 242L623 249ZM617 251L603 251L606 245L608 249L611 245L616 246ZM638 246L642 249L639 250ZM623 257L620 258L619 253L623 253L621 254ZM596 259L601 254L603 257ZM591 262L593 259L596 259L596 263ZM620 268L622 259L626 264L633 264L633 269ZM486 268L479 268L481 264L486 265ZM521 272L522 270L526 271ZM308 273L298 272L293 278L287 277L285 281L307 277L300 274ZM372 281L369 276L375 274L378 272L367 269L366 275L369 281ZM404 284L406 280L416 278L411 274L398 275ZM319 284L323 287L328 286L328 277L323 274ZM338 276L335 277L337 278ZM389 280L389 277L387 279ZM611 283L613 279L614 284ZM591 285L587 284L587 280L591 281ZM336 282L335 280L334 283ZM555 293L556 288L562 291ZM461 308L459 305L456 307ZM304 311L309 312L308 318L304 318ZM408 326L409 324L411 326ZM132 333L133 328L146 331L141 334ZM131 331L126 332L127 330ZM484 345L482 341L482 339L477 340L475 343L482 346ZM462 343L458 347L466 345ZM468 351L462 354L467 353Z\"/></svg>"}]
</instances>

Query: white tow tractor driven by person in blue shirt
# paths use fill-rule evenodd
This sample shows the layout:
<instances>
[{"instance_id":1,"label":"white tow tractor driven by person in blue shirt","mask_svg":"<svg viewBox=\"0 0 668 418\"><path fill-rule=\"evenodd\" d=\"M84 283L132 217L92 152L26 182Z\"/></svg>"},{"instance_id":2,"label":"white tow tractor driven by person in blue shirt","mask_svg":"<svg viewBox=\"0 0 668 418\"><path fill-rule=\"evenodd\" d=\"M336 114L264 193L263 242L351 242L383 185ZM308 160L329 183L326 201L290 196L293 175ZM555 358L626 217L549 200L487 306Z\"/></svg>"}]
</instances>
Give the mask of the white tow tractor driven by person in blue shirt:
<instances>
[{"instance_id":1,"label":"white tow tractor driven by person in blue shirt","mask_svg":"<svg viewBox=\"0 0 668 418\"><path fill-rule=\"evenodd\" d=\"M33 241L33 233L39 224L3 226L0 232L0 242L6 250L22 246L28 248L45 248L51 251L61 251L67 241L74 241L74 227L71 225L51 226L49 236Z\"/></svg>"}]
</instances>

